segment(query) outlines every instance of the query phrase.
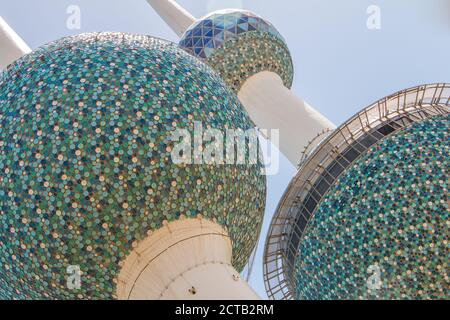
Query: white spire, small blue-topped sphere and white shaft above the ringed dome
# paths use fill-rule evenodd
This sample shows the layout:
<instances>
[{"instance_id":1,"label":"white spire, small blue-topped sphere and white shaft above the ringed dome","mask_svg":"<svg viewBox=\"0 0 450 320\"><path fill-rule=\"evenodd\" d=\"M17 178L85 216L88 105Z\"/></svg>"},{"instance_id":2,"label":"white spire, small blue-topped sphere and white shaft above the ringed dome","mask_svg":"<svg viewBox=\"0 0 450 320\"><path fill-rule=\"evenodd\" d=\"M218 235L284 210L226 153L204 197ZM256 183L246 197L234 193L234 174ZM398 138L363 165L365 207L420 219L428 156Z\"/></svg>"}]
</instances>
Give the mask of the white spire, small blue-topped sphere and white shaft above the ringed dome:
<instances>
[{"instance_id":1,"label":"white spire, small blue-topped sphere and white shaft above the ringed dome","mask_svg":"<svg viewBox=\"0 0 450 320\"><path fill-rule=\"evenodd\" d=\"M244 10L197 20L175 1L147 1L180 36L180 46L234 90L257 127L279 130L279 149L293 165L334 130L333 123L290 91L291 55L268 21Z\"/></svg>"}]
</instances>

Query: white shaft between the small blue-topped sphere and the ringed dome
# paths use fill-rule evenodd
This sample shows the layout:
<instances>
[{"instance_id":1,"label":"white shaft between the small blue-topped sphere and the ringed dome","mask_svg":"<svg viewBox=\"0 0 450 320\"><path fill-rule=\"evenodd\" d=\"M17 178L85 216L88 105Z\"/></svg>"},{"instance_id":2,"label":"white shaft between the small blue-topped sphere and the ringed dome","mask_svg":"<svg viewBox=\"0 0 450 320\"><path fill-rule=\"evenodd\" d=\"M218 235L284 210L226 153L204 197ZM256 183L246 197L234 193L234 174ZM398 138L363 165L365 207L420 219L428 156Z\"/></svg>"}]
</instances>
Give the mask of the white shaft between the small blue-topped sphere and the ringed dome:
<instances>
[{"instance_id":1,"label":"white shaft between the small blue-topped sphere and the ringed dome","mask_svg":"<svg viewBox=\"0 0 450 320\"><path fill-rule=\"evenodd\" d=\"M336 126L283 85L273 72L250 77L238 93L252 120L260 128L280 130L280 151L298 165L305 147L319 143L320 133Z\"/></svg>"}]
</instances>

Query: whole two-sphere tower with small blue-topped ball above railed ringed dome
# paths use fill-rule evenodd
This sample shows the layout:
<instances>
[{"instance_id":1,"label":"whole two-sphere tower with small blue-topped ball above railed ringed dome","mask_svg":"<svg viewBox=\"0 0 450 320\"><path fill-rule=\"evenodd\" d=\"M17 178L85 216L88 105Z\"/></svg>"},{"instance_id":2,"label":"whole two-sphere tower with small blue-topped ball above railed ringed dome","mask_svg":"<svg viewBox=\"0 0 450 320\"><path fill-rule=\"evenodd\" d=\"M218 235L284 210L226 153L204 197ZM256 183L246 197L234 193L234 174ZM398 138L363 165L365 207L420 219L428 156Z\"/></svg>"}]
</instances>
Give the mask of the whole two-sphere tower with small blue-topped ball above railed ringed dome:
<instances>
[{"instance_id":1,"label":"whole two-sphere tower with small blue-topped ball above railed ringed dome","mask_svg":"<svg viewBox=\"0 0 450 320\"><path fill-rule=\"evenodd\" d=\"M173 1L148 1L301 160L266 241L271 298L449 297L448 84L403 90L335 129L288 90L289 52L267 21L241 10L195 20Z\"/></svg>"}]
</instances>

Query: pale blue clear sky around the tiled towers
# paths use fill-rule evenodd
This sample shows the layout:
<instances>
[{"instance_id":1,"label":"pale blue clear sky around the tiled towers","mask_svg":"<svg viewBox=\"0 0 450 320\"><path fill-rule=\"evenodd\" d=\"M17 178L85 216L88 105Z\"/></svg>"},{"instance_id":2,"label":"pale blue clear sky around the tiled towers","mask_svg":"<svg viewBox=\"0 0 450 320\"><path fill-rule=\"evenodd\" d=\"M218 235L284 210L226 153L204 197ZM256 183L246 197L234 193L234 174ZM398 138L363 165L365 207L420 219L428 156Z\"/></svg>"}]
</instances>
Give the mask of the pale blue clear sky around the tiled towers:
<instances>
[{"instance_id":1,"label":"pale blue clear sky around the tiled towers","mask_svg":"<svg viewBox=\"0 0 450 320\"><path fill-rule=\"evenodd\" d=\"M240 7L271 21L295 64L293 91L337 125L372 102L411 86L450 82L450 0L179 0L194 16ZM66 27L70 5L81 29ZM380 8L381 29L367 27ZM1 0L0 15L32 48L92 31L177 36L145 0ZM266 297L262 250L270 219L291 177L286 159L268 177L267 208L251 285Z\"/></svg>"}]
</instances>

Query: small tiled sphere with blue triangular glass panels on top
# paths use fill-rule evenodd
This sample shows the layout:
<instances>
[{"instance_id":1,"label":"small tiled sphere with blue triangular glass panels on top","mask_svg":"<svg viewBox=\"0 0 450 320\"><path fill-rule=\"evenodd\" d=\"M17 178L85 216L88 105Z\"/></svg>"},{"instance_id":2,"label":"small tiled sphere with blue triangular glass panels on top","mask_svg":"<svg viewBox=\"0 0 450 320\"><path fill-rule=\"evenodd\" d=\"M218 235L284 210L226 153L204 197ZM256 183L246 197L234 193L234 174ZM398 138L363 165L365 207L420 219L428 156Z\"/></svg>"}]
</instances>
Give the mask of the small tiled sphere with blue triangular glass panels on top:
<instances>
[{"instance_id":1,"label":"small tiled sphere with blue triangular glass panels on top","mask_svg":"<svg viewBox=\"0 0 450 320\"><path fill-rule=\"evenodd\" d=\"M212 66L236 92L252 75L277 73L291 87L293 65L280 33L266 20L244 10L221 10L195 22L180 46Z\"/></svg>"}]
</instances>

